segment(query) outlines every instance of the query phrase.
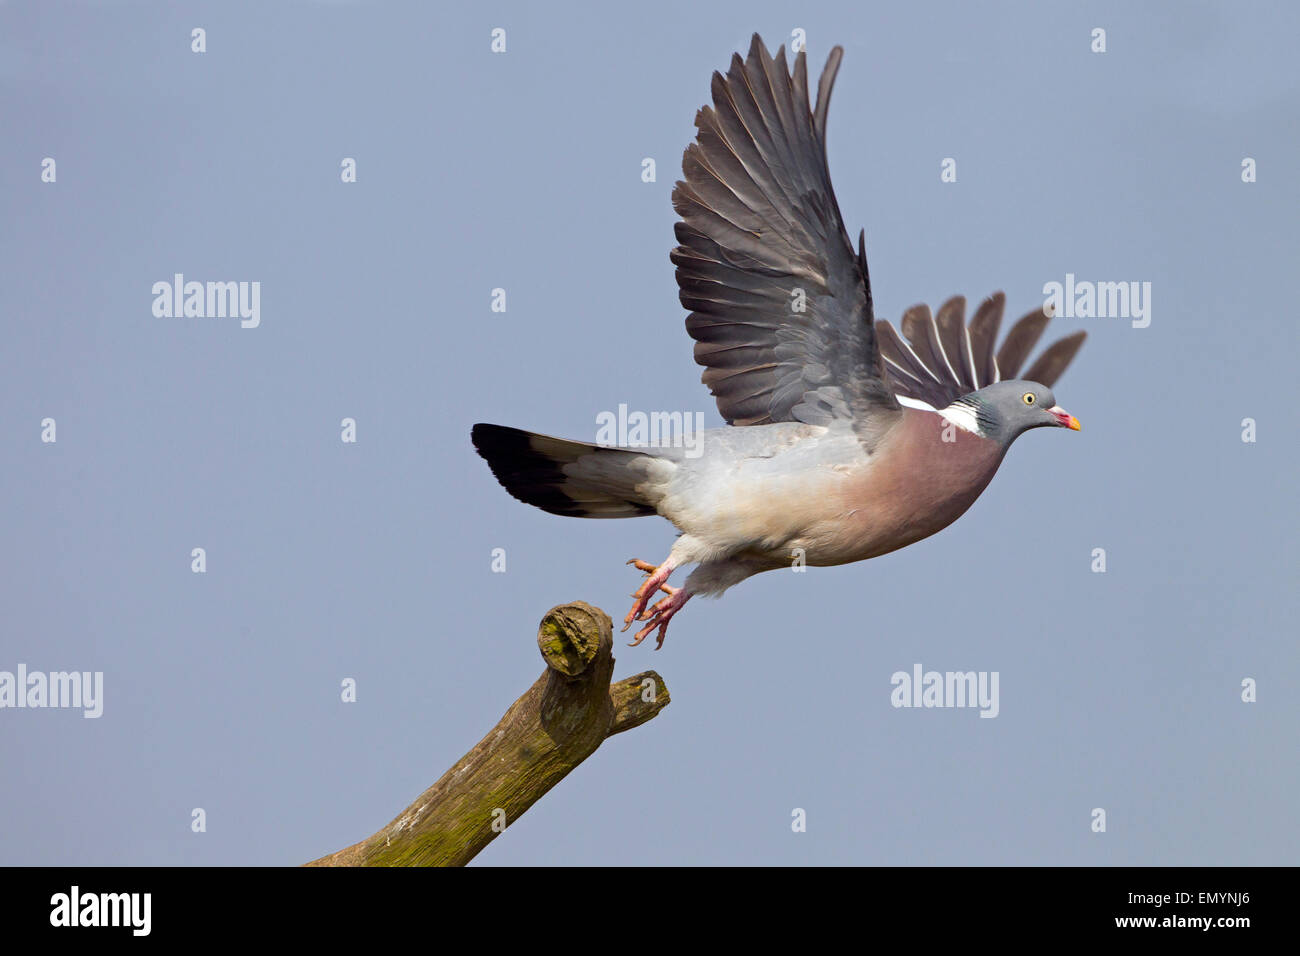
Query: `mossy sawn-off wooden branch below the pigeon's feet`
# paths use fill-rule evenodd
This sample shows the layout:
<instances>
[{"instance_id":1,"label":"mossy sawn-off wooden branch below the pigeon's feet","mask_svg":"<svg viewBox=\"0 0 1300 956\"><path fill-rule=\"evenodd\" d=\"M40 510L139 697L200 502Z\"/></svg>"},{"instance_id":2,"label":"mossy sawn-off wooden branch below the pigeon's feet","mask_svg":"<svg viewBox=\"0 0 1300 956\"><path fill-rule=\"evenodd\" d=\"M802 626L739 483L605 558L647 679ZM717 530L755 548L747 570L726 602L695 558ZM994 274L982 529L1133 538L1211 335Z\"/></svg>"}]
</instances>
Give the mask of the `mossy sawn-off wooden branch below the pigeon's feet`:
<instances>
[{"instance_id":1,"label":"mossy sawn-off wooden branch below the pigeon's feet","mask_svg":"<svg viewBox=\"0 0 1300 956\"><path fill-rule=\"evenodd\" d=\"M614 624L575 601L537 631L546 670L500 722L373 836L308 866L463 866L606 737L668 705L654 671L610 684Z\"/></svg>"}]
</instances>

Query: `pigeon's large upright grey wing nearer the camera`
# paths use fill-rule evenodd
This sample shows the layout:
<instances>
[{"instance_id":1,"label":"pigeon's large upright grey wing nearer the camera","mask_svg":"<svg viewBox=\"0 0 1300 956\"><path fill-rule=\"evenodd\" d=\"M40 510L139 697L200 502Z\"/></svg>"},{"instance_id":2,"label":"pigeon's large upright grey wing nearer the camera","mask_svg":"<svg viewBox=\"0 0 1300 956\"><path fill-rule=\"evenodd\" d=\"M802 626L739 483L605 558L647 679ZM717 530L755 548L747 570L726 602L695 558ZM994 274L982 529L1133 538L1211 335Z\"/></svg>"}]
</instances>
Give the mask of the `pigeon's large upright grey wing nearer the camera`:
<instances>
[{"instance_id":1,"label":"pigeon's large upright grey wing nearer the camera","mask_svg":"<svg viewBox=\"0 0 1300 956\"><path fill-rule=\"evenodd\" d=\"M852 419L870 446L900 416L872 329L871 282L831 189L826 113L844 51L831 51L809 107L794 72L758 34L727 75L672 191L681 216L672 261L696 362L733 425Z\"/></svg>"}]
</instances>

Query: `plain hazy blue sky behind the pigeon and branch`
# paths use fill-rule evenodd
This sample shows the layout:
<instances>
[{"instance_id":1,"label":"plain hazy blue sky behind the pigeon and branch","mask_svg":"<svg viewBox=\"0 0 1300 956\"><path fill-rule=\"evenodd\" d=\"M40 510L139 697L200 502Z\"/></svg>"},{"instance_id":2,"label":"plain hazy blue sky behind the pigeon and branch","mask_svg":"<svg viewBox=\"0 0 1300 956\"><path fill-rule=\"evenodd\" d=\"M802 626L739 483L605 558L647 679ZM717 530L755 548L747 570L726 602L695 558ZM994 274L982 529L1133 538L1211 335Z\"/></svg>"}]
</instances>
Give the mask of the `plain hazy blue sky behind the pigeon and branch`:
<instances>
[{"instance_id":1,"label":"plain hazy blue sky behind the pigeon and branch","mask_svg":"<svg viewBox=\"0 0 1300 956\"><path fill-rule=\"evenodd\" d=\"M1053 321L1089 332L1054 389L1084 431L1027 434L952 528L616 645L615 676L654 667L672 704L477 862L1296 862L1297 26L1282 4L0 4L0 670L104 672L98 719L0 709L0 862L338 849L536 679L549 607L621 618L624 562L673 529L520 505L469 427L590 440L620 403L720 424L670 194L711 72L794 30L810 73L845 47L829 164L878 315L1002 289L1018 316L1074 274L1150 282L1150 324ZM259 282L260 324L155 316L177 272ZM997 718L890 706L916 663L997 671Z\"/></svg>"}]
</instances>

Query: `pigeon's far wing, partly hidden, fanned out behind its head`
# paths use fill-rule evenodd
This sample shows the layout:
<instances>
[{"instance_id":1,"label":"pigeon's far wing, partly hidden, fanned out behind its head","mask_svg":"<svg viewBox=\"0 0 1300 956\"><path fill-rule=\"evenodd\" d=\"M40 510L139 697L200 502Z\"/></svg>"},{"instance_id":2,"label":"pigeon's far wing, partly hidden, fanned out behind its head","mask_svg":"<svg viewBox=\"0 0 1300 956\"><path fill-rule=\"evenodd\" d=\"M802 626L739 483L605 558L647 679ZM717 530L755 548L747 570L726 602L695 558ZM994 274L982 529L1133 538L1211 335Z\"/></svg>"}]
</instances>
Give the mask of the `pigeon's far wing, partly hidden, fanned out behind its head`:
<instances>
[{"instance_id":1,"label":"pigeon's far wing, partly hidden, fanned out behind its head","mask_svg":"<svg viewBox=\"0 0 1300 956\"><path fill-rule=\"evenodd\" d=\"M966 324L966 299L954 295L930 313L930 306L904 312L902 336L881 319L876 338L896 395L944 408L962 395L1006 378L1027 378L1052 388L1083 346L1087 332L1057 339L1022 375L1024 359L1034 351L1050 316L1043 310L1020 319L993 352L1002 323L1006 297L993 293L980 303Z\"/></svg>"}]
</instances>

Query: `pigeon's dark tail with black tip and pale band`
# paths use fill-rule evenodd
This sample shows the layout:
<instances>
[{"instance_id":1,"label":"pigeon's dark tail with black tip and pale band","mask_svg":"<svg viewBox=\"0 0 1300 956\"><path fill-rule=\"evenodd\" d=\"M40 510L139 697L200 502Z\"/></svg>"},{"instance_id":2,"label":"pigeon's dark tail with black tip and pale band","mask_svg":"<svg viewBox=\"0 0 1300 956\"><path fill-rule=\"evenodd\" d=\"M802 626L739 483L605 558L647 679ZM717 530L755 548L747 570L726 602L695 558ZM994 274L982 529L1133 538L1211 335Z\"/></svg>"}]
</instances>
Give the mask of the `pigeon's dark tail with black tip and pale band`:
<instances>
[{"instance_id":1,"label":"pigeon's dark tail with black tip and pale band","mask_svg":"<svg viewBox=\"0 0 1300 956\"><path fill-rule=\"evenodd\" d=\"M640 518L655 505L676 466L629 449L552 438L504 425L469 432L502 486L525 505L569 518Z\"/></svg>"}]
</instances>

